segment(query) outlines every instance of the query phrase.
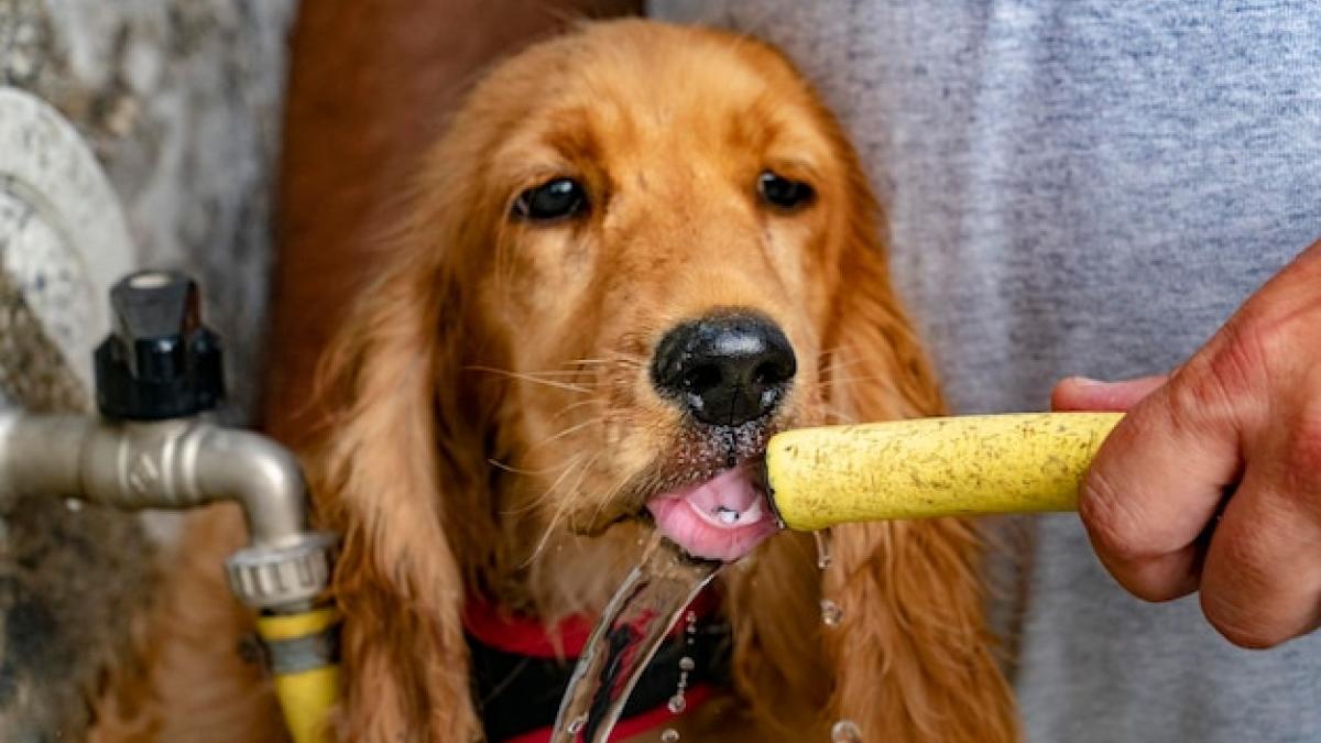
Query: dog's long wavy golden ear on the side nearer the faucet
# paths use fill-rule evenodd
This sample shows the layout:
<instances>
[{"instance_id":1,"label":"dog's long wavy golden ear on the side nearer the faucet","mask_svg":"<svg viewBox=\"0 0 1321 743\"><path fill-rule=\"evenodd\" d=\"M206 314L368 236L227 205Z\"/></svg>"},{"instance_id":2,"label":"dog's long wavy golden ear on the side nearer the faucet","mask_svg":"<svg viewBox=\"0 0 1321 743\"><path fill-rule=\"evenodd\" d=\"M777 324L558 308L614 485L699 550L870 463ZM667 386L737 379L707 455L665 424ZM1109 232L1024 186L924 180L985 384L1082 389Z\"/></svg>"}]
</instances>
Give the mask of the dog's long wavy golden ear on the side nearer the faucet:
<instances>
[{"instance_id":1,"label":"dog's long wavy golden ear on the side nearer the faucet","mask_svg":"<svg viewBox=\"0 0 1321 743\"><path fill-rule=\"evenodd\" d=\"M469 505L480 492L473 463L483 460L461 410L472 405L458 381L464 235L445 201L394 241L384 275L322 366L332 415L314 497L318 517L343 534L334 590L345 613L347 740L481 736L458 555L480 529L465 520L485 512Z\"/></svg>"}]
</instances>

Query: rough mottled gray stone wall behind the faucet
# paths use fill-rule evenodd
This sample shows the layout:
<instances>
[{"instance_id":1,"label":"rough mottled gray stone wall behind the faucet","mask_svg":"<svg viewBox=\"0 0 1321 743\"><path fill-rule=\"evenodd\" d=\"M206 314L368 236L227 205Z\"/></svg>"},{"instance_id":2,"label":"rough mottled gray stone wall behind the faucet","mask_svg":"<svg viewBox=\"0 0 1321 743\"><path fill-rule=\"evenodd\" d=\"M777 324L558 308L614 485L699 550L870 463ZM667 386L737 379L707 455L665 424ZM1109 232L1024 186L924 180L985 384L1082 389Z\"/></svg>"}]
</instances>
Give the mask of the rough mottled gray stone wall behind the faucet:
<instances>
[{"instance_id":1,"label":"rough mottled gray stone wall behind the faucet","mask_svg":"<svg viewBox=\"0 0 1321 743\"><path fill-rule=\"evenodd\" d=\"M91 148L123 210L132 267L182 268L201 283L207 324L226 341L229 422L250 420L259 394L293 13L295 0L0 0L0 85L34 93ZM90 360L65 332L79 324L53 320L86 287L55 259L12 268L16 251L46 238L41 210L25 210L30 194L4 185L0 405L86 409ZM89 243L74 253L98 250L95 237L74 242ZM125 646L156 549L132 516L0 498L0 740L81 739L86 693Z\"/></svg>"}]
</instances>

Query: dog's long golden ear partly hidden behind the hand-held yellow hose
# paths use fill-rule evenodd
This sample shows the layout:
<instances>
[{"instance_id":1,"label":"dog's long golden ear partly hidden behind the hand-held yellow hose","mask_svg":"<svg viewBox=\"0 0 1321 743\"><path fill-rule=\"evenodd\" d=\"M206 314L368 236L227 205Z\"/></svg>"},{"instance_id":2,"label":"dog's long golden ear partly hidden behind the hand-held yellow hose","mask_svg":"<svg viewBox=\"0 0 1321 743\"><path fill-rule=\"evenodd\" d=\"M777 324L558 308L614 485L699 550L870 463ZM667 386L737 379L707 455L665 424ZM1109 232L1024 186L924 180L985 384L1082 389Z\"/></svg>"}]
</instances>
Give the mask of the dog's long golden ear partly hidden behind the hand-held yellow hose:
<instances>
[{"instance_id":1,"label":"dog's long golden ear partly hidden behind the hand-held yellow hose","mask_svg":"<svg viewBox=\"0 0 1321 743\"><path fill-rule=\"evenodd\" d=\"M843 145L841 147L847 147ZM838 422L939 415L943 402L890 288L882 218L857 168L827 374ZM979 575L983 554L962 520L836 528L823 598L843 611L826 643L838 668L831 709L867 740L1009 743L1012 693L993 656Z\"/></svg>"}]
</instances>

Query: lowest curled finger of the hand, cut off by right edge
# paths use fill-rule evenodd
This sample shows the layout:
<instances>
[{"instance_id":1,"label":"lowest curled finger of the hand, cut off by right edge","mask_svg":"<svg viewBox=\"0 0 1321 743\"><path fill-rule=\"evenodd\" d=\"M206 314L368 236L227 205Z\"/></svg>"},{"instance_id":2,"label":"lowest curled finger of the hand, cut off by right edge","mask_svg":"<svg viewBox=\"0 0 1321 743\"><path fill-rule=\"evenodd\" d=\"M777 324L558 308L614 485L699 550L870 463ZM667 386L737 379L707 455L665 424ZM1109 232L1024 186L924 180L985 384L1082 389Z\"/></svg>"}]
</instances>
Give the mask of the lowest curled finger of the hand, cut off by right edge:
<instances>
[{"instance_id":1,"label":"lowest curled finger of the hand, cut off by right edge","mask_svg":"<svg viewBox=\"0 0 1321 743\"><path fill-rule=\"evenodd\" d=\"M1206 553L1202 612L1246 648L1321 625L1321 473L1291 447L1254 452Z\"/></svg>"}]
</instances>

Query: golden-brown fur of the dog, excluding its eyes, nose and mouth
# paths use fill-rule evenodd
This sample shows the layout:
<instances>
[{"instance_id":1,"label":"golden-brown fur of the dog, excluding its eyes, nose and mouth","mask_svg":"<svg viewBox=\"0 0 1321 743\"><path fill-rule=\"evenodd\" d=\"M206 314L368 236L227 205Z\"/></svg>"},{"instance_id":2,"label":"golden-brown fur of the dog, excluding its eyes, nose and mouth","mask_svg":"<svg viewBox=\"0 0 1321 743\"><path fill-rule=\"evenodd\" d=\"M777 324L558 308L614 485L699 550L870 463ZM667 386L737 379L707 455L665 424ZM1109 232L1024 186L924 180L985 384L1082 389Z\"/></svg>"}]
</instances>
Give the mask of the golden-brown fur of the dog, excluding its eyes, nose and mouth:
<instances>
[{"instance_id":1,"label":"golden-brown fur of the dog, excluding its eyes, nose and mouth","mask_svg":"<svg viewBox=\"0 0 1321 743\"><path fill-rule=\"evenodd\" d=\"M765 169L815 201L769 209ZM343 740L480 739L465 598L548 624L601 608L637 561L639 493L703 456L647 377L676 323L741 307L783 328L798 375L777 430L942 411L857 157L764 44L585 25L482 79L421 172L326 361L337 402L310 460L318 516L345 535ZM511 219L523 189L565 175L585 214ZM823 575L810 537L786 533L724 572L736 687L683 740L824 740L840 718L867 740L1016 739L972 526L840 528L834 553ZM823 596L840 627L822 625ZM251 694L235 677L213 686Z\"/></svg>"}]
</instances>

